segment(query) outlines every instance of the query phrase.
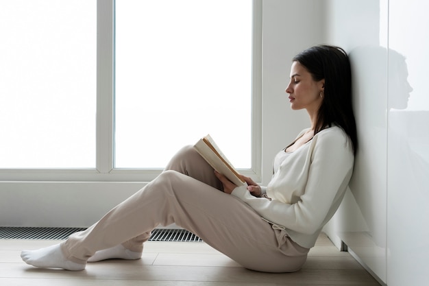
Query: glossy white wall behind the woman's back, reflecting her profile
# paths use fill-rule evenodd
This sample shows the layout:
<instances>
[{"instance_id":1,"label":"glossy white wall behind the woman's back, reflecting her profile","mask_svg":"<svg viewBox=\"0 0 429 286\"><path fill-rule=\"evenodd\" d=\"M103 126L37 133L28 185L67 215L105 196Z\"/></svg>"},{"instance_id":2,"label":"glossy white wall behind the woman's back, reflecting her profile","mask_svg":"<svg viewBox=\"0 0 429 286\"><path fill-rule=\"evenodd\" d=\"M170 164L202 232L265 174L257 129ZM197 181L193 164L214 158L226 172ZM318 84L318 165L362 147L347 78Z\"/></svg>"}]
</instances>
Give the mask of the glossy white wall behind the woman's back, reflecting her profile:
<instances>
[{"instance_id":1,"label":"glossy white wall behind the woman's back, reflecting her profile","mask_svg":"<svg viewBox=\"0 0 429 286\"><path fill-rule=\"evenodd\" d=\"M352 61L360 150L352 191L326 232L382 283L427 285L428 3L328 3L328 38Z\"/></svg>"}]
</instances>

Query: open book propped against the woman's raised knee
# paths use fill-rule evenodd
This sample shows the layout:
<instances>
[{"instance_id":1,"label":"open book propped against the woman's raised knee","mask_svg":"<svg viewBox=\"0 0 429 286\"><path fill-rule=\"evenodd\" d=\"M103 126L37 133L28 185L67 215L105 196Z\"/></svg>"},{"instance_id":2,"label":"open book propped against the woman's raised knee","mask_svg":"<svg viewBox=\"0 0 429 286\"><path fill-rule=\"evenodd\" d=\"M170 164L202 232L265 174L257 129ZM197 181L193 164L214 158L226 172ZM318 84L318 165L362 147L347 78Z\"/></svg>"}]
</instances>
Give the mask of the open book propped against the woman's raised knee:
<instances>
[{"instance_id":1,"label":"open book propped against the woman's raised knee","mask_svg":"<svg viewBox=\"0 0 429 286\"><path fill-rule=\"evenodd\" d=\"M199 139L194 145L195 150L213 167L218 173L223 174L237 186L246 184L240 178L237 171L232 167L230 161L223 155L210 134Z\"/></svg>"}]
</instances>

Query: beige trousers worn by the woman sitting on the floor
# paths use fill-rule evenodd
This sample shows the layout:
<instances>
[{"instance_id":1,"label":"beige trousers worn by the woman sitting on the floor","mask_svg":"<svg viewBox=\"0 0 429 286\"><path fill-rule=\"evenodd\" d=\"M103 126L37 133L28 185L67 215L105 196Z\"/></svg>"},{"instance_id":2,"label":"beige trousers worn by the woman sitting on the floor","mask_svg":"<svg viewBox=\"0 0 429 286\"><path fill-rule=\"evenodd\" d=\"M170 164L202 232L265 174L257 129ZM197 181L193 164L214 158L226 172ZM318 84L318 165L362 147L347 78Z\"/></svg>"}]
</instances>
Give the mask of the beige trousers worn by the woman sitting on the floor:
<instances>
[{"instance_id":1,"label":"beige trousers worn by the woman sitting on the floor","mask_svg":"<svg viewBox=\"0 0 429 286\"><path fill-rule=\"evenodd\" d=\"M243 267L262 272L293 272L308 249L291 241L243 201L219 191L214 171L191 146L180 150L165 171L113 208L87 230L61 243L67 259L86 263L97 250L122 243L134 252L158 225L191 231Z\"/></svg>"}]
</instances>

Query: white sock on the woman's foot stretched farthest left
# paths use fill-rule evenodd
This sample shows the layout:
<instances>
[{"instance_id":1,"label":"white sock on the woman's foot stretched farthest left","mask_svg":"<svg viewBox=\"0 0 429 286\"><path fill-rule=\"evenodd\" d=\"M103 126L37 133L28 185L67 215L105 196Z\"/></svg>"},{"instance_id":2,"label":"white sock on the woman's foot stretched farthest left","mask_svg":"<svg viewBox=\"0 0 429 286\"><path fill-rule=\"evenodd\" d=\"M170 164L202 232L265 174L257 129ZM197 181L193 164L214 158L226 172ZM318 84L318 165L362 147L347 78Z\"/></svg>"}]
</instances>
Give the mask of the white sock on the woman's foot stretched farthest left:
<instances>
[{"instance_id":1,"label":"white sock on the woman's foot stretched farthest left","mask_svg":"<svg viewBox=\"0 0 429 286\"><path fill-rule=\"evenodd\" d=\"M25 263L35 267L84 270L86 266L86 264L75 263L66 259L62 254L60 244L38 250L23 250L21 258Z\"/></svg>"}]
</instances>

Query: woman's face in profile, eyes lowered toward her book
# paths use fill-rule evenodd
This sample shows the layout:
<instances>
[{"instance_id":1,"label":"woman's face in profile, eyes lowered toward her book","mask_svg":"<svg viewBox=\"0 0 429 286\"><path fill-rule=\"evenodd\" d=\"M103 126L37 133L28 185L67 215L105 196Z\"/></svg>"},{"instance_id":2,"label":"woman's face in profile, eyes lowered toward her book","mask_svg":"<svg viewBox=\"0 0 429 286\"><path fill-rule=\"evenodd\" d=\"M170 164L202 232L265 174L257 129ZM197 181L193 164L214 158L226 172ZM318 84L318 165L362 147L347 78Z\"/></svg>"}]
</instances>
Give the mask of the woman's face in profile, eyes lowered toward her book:
<instances>
[{"instance_id":1,"label":"woman's face in profile, eyes lowered toward her book","mask_svg":"<svg viewBox=\"0 0 429 286\"><path fill-rule=\"evenodd\" d=\"M302 64L294 61L291 67L291 82L286 88L291 108L293 110L305 108L308 112L317 112L323 100L320 95L324 86L325 80L316 82Z\"/></svg>"}]
</instances>

